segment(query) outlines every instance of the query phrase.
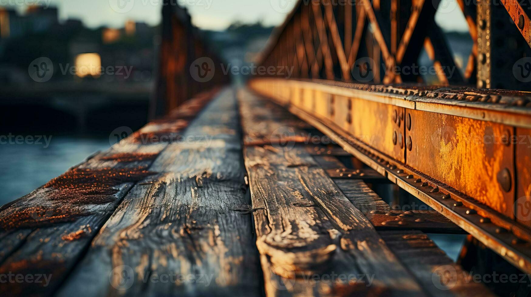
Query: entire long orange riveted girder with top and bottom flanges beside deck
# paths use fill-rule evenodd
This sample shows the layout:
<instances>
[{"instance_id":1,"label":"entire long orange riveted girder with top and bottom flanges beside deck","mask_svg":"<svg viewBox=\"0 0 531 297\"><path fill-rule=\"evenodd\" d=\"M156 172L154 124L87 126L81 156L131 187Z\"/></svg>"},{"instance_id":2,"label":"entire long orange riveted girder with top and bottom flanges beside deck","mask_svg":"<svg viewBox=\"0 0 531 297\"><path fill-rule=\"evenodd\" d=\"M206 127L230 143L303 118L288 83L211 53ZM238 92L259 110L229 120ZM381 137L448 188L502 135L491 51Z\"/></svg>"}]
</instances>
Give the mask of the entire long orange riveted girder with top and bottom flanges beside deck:
<instances>
[{"instance_id":1,"label":"entire long orange riveted girder with top and bottom flanges beside deck","mask_svg":"<svg viewBox=\"0 0 531 297\"><path fill-rule=\"evenodd\" d=\"M531 273L529 93L279 78L250 86Z\"/></svg>"}]
</instances>

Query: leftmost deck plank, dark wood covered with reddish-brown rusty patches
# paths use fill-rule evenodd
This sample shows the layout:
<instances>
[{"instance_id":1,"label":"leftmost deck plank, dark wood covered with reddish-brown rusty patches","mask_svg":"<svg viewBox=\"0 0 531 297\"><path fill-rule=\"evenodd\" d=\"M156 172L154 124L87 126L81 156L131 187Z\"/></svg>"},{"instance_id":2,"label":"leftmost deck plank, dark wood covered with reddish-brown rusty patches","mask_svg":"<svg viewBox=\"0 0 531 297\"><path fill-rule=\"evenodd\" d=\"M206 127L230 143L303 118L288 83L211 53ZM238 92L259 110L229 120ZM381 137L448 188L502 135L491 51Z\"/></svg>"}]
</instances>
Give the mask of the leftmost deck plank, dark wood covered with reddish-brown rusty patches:
<instances>
[{"instance_id":1,"label":"leftmost deck plank, dark wood covered with reddish-brown rusty patches","mask_svg":"<svg viewBox=\"0 0 531 297\"><path fill-rule=\"evenodd\" d=\"M208 95L193 104L204 104ZM190 104L183 110L199 111ZM165 143L152 136L178 134L183 125L150 123L106 152L0 208L2 248L0 273L41 276L41 282L0 283L8 294L49 295L61 284L99 228L148 171ZM119 135L121 136L121 135ZM149 137L148 137L149 136ZM42 276L47 281L42 282Z\"/></svg>"}]
</instances>

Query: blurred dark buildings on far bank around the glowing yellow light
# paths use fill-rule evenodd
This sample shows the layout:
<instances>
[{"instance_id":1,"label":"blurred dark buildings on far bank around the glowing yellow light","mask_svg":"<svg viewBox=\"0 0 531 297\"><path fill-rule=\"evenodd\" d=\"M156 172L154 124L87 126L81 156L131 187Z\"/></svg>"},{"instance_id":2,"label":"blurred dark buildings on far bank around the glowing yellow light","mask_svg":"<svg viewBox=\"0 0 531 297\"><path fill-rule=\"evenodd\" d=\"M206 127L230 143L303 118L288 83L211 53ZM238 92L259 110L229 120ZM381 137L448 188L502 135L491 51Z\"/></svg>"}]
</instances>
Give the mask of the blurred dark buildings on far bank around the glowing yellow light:
<instances>
[{"instance_id":1,"label":"blurred dark buildings on far bank around the glowing yellow light","mask_svg":"<svg viewBox=\"0 0 531 297\"><path fill-rule=\"evenodd\" d=\"M56 75L52 81L56 82L95 78L105 82L149 82L158 30L134 21L127 21L121 29L90 29L80 20L59 22L56 8L33 6L25 14L0 8L0 82L31 81L28 64L38 57L53 61ZM74 66L88 69L88 73L73 73L69 69ZM112 73L96 73L100 67L109 67Z\"/></svg>"}]
</instances>

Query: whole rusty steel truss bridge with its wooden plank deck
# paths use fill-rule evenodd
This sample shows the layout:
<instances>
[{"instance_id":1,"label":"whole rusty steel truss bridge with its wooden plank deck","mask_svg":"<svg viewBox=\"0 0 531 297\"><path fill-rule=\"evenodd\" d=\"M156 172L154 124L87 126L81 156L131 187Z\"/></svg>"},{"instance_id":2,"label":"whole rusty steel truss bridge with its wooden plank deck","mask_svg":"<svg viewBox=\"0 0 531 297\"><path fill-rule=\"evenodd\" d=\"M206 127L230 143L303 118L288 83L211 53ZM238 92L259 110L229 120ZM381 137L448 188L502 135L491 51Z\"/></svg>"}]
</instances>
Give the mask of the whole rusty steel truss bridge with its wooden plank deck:
<instances>
[{"instance_id":1,"label":"whole rusty steel truss bridge with its wooden plank deck","mask_svg":"<svg viewBox=\"0 0 531 297\"><path fill-rule=\"evenodd\" d=\"M290 76L233 87L186 11L164 6L153 120L0 208L0 274L52 275L0 288L528 295L525 278L467 271L531 274L531 6L456 3L463 71L439 0L302 0L258 61ZM423 54L434 78L411 71ZM467 234L457 263L426 233ZM169 273L194 278L158 281Z\"/></svg>"}]
</instances>

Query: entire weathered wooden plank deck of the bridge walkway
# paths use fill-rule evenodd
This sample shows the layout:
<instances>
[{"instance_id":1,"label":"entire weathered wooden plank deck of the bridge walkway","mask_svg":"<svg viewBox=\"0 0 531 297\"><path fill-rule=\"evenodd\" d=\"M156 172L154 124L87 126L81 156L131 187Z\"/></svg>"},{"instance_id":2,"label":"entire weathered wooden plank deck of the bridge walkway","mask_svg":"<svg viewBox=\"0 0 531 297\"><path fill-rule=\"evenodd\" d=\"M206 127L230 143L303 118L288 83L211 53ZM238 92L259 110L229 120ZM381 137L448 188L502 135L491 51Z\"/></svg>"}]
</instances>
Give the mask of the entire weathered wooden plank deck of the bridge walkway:
<instances>
[{"instance_id":1,"label":"entire weathered wooden plank deck of the bridge walkway","mask_svg":"<svg viewBox=\"0 0 531 297\"><path fill-rule=\"evenodd\" d=\"M491 295L460 273L441 290L438 269L461 268L419 230L459 228L393 211L362 178L331 176L346 154L313 154L311 129L245 90L189 101L0 208L0 273L50 276L0 291ZM185 141L139 141L170 134Z\"/></svg>"}]
</instances>

